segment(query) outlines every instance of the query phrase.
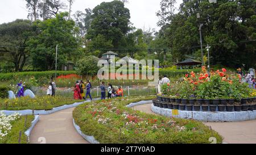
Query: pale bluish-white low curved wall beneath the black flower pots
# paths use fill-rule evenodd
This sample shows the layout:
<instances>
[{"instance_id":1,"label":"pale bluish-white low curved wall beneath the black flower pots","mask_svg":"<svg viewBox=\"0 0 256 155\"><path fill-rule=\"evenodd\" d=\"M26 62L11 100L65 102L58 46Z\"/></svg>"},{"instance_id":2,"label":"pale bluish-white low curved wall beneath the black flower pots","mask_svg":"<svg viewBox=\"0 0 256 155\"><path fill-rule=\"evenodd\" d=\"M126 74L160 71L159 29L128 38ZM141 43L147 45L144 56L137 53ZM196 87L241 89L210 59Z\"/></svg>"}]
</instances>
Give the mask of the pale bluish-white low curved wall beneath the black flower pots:
<instances>
[{"instance_id":1,"label":"pale bluish-white low curved wall beneath the black flower pots","mask_svg":"<svg viewBox=\"0 0 256 155\"><path fill-rule=\"evenodd\" d=\"M256 119L256 110L254 111L233 111L233 112L210 112L210 111L181 111L178 110L179 115L172 115L172 110L168 108L160 108L151 104L151 111L155 114L183 118L195 119L200 122L242 122L246 120Z\"/></svg>"}]
</instances>

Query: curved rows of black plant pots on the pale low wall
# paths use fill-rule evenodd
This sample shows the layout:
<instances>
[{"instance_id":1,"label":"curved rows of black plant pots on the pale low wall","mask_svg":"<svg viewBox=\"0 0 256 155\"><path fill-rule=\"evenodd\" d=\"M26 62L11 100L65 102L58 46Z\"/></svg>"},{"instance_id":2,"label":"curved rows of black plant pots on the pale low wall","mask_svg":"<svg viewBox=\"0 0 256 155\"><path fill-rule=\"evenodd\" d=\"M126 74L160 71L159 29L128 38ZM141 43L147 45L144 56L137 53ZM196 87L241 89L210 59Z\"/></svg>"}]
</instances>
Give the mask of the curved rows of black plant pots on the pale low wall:
<instances>
[{"instance_id":1,"label":"curved rows of black plant pots on the pale low wall","mask_svg":"<svg viewBox=\"0 0 256 155\"><path fill-rule=\"evenodd\" d=\"M177 110L187 110L187 111L248 111L256 110L256 102L246 102L246 104L241 104L237 102L228 102L227 104L207 104L207 103L182 103L177 100L177 102L163 102L158 99L153 100L154 106L160 108L169 108Z\"/></svg>"}]
</instances>

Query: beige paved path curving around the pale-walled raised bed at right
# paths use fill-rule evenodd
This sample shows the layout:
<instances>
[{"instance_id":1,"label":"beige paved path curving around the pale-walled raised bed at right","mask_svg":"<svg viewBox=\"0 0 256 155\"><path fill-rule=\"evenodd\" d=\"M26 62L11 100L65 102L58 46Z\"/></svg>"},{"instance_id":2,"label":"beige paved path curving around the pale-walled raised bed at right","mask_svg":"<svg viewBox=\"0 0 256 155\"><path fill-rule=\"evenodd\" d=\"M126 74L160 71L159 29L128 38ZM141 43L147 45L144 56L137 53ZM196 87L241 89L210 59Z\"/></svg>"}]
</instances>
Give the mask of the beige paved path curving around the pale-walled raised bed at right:
<instances>
[{"instance_id":1,"label":"beige paved path curving around the pale-walled raised bed at right","mask_svg":"<svg viewBox=\"0 0 256 155\"><path fill-rule=\"evenodd\" d=\"M151 111L151 104L143 104L133 108L134 110L143 111L148 114L155 114ZM220 133L220 135L224 137L224 143L256 144L256 120L225 123L208 122L204 124Z\"/></svg>"}]
</instances>

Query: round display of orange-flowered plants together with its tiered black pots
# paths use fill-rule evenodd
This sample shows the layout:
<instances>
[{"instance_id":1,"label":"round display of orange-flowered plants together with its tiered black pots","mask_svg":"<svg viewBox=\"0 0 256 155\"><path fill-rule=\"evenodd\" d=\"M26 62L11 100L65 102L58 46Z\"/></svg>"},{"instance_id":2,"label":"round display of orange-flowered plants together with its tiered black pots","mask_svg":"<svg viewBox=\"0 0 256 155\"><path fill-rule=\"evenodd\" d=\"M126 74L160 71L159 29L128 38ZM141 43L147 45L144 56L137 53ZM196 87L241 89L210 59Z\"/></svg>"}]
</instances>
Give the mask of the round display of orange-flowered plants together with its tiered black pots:
<instances>
[{"instance_id":1,"label":"round display of orange-flowered plants together with its tiered black pots","mask_svg":"<svg viewBox=\"0 0 256 155\"><path fill-rule=\"evenodd\" d=\"M185 110L185 107L195 111L256 110L256 92L241 82L239 74L227 74L223 68L209 75L203 66L201 73L191 72L183 79L182 82L162 85L158 101L180 110ZM164 104L158 103L158 106Z\"/></svg>"}]
</instances>

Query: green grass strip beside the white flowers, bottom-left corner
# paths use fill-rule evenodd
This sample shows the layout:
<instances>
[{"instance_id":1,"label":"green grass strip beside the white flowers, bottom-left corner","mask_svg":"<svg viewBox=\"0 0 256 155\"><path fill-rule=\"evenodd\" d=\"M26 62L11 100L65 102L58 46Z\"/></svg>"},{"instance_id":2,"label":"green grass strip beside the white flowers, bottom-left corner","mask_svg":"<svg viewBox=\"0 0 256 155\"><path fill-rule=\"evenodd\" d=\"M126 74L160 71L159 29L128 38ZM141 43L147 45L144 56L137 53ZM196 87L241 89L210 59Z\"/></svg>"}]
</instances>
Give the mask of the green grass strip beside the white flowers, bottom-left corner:
<instances>
[{"instance_id":1,"label":"green grass strip beside the white flowers, bottom-left corner","mask_svg":"<svg viewBox=\"0 0 256 155\"><path fill-rule=\"evenodd\" d=\"M26 116L20 116L20 118L14 122L11 122L13 127L11 131L0 140L0 144L18 144L19 142L19 132L22 131L22 136L20 139L20 144L28 144L28 137L25 135L25 131L30 128L31 122L34 120L34 116L27 116L27 123L25 125Z\"/></svg>"}]
</instances>

